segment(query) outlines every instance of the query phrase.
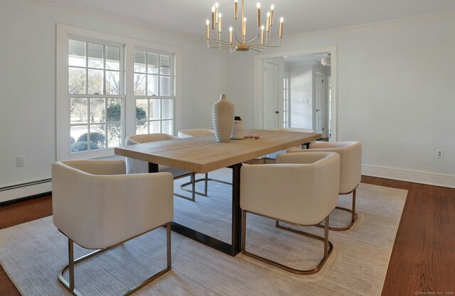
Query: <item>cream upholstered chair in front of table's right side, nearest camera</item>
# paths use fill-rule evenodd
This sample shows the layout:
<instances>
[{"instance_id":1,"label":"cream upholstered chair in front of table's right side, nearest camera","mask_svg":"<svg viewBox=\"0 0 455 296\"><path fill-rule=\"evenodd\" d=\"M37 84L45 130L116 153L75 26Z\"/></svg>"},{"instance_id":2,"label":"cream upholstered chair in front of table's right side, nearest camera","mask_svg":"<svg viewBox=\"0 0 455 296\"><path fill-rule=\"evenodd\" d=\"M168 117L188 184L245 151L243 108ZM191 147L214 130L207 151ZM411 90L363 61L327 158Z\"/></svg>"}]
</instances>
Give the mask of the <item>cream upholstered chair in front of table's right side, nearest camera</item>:
<instances>
[{"instance_id":1,"label":"cream upholstered chair in front of table's right side, nearest camera","mask_svg":"<svg viewBox=\"0 0 455 296\"><path fill-rule=\"evenodd\" d=\"M297 274L317 273L333 250L328 241L328 216L338 203L340 157L336 153L284 153L277 163L242 165L240 207L242 208L242 253ZM270 261L245 249L247 213L296 225L315 225L325 220L325 236L280 226L324 242L323 258L316 268L297 270Z\"/></svg>"}]
</instances>

